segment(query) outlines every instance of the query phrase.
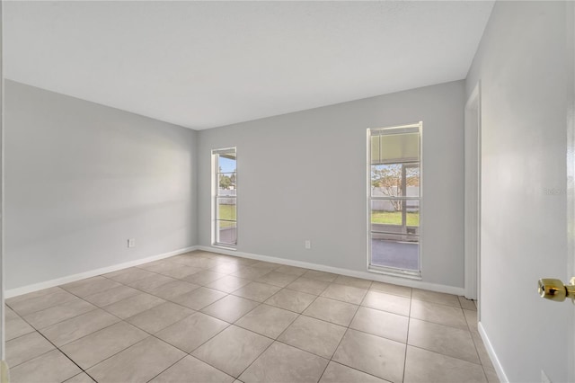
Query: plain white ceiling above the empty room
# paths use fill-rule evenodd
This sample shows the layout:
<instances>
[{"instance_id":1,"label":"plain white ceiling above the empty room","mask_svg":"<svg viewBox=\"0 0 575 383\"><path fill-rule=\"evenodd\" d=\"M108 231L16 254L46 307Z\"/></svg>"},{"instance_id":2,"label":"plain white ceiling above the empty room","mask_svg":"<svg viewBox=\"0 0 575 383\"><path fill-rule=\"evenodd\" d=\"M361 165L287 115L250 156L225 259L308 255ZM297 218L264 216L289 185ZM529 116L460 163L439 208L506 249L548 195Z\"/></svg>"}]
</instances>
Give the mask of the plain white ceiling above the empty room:
<instances>
[{"instance_id":1,"label":"plain white ceiling above the empty room","mask_svg":"<svg viewBox=\"0 0 575 383\"><path fill-rule=\"evenodd\" d=\"M4 2L4 75L208 129L462 79L492 4Z\"/></svg>"}]
</instances>

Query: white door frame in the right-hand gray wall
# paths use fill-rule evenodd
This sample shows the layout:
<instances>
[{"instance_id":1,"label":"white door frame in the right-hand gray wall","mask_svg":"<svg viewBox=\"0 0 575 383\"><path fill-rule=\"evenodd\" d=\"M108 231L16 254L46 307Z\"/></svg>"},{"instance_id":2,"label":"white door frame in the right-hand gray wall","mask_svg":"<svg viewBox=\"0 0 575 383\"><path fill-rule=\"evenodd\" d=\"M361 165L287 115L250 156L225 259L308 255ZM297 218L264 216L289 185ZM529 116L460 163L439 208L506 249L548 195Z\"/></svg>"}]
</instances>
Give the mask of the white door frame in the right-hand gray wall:
<instances>
[{"instance_id":1,"label":"white door frame in the right-hand gray wall","mask_svg":"<svg viewBox=\"0 0 575 383\"><path fill-rule=\"evenodd\" d=\"M481 81L464 109L464 294L480 298L481 272ZM479 320L480 310L478 310Z\"/></svg>"}]
</instances>

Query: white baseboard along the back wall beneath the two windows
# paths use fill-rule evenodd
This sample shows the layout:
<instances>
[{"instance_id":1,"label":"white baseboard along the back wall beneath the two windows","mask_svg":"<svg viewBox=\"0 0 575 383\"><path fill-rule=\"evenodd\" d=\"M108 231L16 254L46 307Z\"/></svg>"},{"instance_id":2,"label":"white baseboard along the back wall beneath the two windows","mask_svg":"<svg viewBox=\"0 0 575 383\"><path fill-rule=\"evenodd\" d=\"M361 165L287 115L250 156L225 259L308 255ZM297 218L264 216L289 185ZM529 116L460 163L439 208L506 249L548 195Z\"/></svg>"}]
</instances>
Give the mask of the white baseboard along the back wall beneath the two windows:
<instances>
[{"instance_id":1,"label":"white baseboard along the back wall beneath the two windows","mask_svg":"<svg viewBox=\"0 0 575 383\"><path fill-rule=\"evenodd\" d=\"M255 259L258 261L273 262L280 264L287 264L288 266L305 267L306 269L317 270L320 272L333 272L335 274L347 275L349 277L362 278L364 280L379 281L385 283L393 283L395 285L407 286L416 289L429 289L431 291L445 292L447 294L464 295L464 288L454 286L440 285L437 283L429 283L424 281L415 281L404 278L397 278L391 275L378 274L373 272L358 272L355 270L341 269L339 267L326 266L318 263L307 263L303 261L294 261L286 258L277 258L268 255L242 253L235 250L228 250L216 246L197 246L198 250L203 250L212 253L234 255L242 258Z\"/></svg>"}]
</instances>

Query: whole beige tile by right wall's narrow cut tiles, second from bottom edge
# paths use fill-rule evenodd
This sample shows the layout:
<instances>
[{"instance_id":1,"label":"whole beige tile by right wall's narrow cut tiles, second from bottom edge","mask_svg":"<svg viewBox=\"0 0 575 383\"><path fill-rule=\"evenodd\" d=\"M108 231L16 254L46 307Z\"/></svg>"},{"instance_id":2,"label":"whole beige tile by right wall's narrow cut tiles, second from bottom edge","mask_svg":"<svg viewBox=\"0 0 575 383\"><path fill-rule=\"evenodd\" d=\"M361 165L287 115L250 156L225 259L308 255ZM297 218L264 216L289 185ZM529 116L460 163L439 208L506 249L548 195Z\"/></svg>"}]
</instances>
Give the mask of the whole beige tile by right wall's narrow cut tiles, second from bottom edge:
<instances>
[{"instance_id":1,"label":"whole beige tile by right wall's narrow cut tiles, second from bottom edge","mask_svg":"<svg viewBox=\"0 0 575 383\"><path fill-rule=\"evenodd\" d=\"M481 363L471 333L459 328L412 318L408 344L464 361Z\"/></svg>"}]
</instances>

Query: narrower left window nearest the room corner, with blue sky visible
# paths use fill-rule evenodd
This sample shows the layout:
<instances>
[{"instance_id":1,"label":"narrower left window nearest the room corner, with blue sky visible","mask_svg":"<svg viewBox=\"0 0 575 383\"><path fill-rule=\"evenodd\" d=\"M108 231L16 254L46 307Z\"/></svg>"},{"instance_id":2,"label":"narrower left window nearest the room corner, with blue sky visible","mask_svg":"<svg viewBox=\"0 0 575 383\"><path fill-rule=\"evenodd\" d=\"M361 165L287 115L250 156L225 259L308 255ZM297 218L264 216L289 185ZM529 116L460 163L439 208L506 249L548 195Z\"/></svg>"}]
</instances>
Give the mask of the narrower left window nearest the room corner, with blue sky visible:
<instances>
[{"instance_id":1,"label":"narrower left window nearest the room corner, with blue sky visible","mask_svg":"<svg viewBox=\"0 0 575 383\"><path fill-rule=\"evenodd\" d=\"M237 158L235 147L212 150L212 243L237 244Z\"/></svg>"}]
</instances>

